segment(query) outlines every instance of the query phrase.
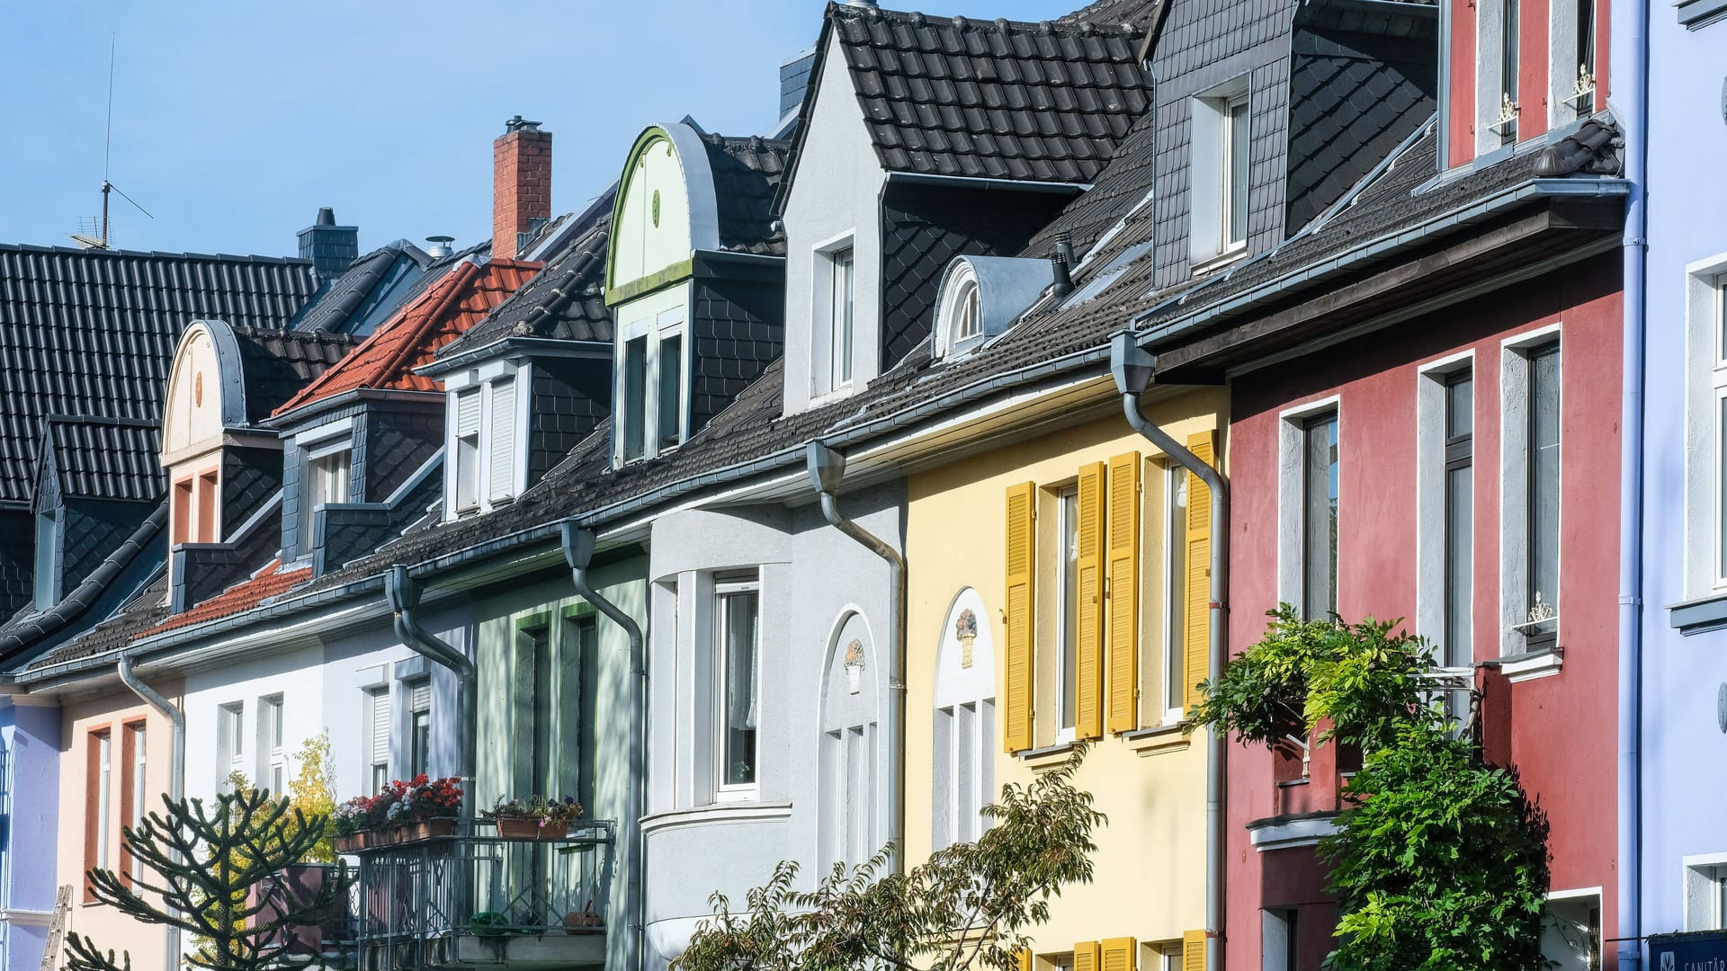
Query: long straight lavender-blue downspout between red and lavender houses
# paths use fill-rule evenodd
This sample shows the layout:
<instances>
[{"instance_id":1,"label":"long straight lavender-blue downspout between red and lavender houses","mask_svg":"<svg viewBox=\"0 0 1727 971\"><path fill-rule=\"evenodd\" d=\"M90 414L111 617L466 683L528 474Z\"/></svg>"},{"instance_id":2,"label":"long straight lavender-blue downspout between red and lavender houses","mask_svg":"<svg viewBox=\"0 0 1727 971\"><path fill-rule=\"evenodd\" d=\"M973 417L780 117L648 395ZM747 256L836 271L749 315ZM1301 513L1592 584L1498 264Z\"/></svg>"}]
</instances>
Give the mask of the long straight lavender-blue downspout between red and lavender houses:
<instances>
[{"instance_id":1,"label":"long straight lavender-blue downspout between red and lavender houses","mask_svg":"<svg viewBox=\"0 0 1727 971\"><path fill-rule=\"evenodd\" d=\"M1620 657L1618 657L1618 966L1642 966L1642 441L1648 328L1649 0L1635 0L1623 78L1630 124L1623 242L1623 401L1620 403Z\"/></svg>"}]
</instances>

